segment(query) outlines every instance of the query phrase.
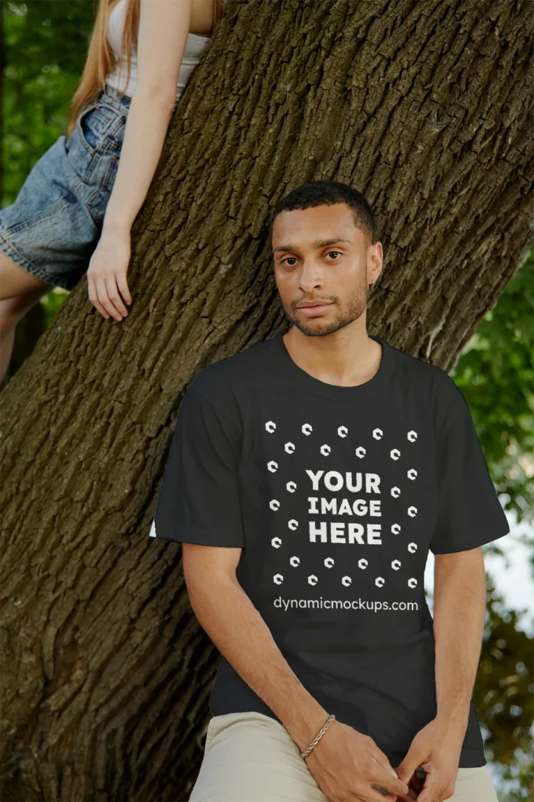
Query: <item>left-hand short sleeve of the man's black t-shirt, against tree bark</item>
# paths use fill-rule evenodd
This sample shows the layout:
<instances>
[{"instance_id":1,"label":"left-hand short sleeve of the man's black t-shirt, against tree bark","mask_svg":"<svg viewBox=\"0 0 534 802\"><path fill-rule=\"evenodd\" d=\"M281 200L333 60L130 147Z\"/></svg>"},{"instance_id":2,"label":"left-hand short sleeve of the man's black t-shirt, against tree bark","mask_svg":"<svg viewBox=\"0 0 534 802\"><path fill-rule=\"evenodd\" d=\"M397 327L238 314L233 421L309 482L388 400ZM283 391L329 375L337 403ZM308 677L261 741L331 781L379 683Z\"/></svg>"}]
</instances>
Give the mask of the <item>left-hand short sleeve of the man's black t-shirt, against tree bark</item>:
<instances>
[{"instance_id":1,"label":"left-hand short sleeve of the man's black t-shirt, against tree bark","mask_svg":"<svg viewBox=\"0 0 534 802\"><path fill-rule=\"evenodd\" d=\"M191 384L183 395L151 537L244 546L239 424Z\"/></svg>"}]
</instances>

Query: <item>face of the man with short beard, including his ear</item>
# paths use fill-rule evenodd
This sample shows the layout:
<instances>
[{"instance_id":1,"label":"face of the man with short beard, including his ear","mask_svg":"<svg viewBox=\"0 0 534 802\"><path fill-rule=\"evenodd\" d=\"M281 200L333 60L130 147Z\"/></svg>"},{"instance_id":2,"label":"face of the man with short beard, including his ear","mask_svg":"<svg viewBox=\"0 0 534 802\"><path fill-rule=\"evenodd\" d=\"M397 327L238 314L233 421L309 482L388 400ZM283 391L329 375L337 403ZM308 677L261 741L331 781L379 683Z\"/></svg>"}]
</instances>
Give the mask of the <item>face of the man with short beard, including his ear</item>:
<instances>
[{"instance_id":1,"label":"face of the man with short beard, including his ear","mask_svg":"<svg viewBox=\"0 0 534 802\"><path fill-rule=\"evenodd\" d=\"M382 269L382 245L367 245L346 204L278 214L272 247L283 308L303 334L331 334L366 310L368 285Z\"/></svg>"}]
</instances>

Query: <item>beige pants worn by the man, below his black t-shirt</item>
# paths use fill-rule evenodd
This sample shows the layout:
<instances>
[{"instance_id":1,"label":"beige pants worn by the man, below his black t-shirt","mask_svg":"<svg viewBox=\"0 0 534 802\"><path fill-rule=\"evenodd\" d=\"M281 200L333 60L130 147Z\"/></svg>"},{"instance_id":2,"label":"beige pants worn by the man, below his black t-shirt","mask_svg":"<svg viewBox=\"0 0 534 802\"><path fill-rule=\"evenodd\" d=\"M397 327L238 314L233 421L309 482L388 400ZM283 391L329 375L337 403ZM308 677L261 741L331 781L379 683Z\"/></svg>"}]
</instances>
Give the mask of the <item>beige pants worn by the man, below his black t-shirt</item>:
<instances>
[{"instance_id":1,"label":"beige pants worn by the man, below his black t-shirt","mask_svg":"<svg viewBox=\"0 0 534 802\"><path fill-rule=\"evenodd\" d=\"M459 768L449 799L497 802L488 767ZM247 712L210 719L189 802L327 802L327 797L286 728L271 716Z\"/></svg>"}]
</instances>

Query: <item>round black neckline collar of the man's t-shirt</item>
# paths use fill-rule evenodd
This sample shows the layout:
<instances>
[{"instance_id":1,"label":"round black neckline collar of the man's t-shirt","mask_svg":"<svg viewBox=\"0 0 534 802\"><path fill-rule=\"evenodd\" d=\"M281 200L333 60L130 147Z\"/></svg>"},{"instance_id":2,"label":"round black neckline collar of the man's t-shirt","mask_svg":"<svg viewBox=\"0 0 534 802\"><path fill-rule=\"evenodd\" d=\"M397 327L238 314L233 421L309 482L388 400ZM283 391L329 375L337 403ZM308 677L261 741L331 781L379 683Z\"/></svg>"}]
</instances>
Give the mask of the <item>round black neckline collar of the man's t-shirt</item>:
<instances>
[{"instance_id":1,"label":"round black neckline collar of the man's t-shirt","mask_svg":"<svg viewBox=\"0 0 534 802\"><path fill-rule=\"evenodd\" d=\"M377 334L368 334L371 339L379 342L382 346L382 358L375 375L362 384L341 386L322 382L293 362L282 336L282 333L276 334L269 342L271 344L271 352L279 359L279 367L283 369L290 383L298 384L306 391L315 393L315 395L322 395L323 398L333 401L359 401L368 399L385 390L391 375L392 354L391 346L383 337Z\"/></svg>"}]
</instances>

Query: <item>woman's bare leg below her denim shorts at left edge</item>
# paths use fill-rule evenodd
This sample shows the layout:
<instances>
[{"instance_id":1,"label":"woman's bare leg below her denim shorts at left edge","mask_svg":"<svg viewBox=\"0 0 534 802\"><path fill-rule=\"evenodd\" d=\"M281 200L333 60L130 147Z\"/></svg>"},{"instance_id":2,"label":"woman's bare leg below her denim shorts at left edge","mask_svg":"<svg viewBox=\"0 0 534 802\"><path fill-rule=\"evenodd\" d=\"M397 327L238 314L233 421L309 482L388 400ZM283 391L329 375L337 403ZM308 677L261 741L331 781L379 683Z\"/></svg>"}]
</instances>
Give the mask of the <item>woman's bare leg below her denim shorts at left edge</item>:
<instances>
[{"instance_id":1,"label":"woman's bare leg below her denim shorts at left edge","mask_svg":"<svg viewBox=\"0 0 534 802\"><path fill-rule=\"evenodd\" d=\"M53 287L0 252L0 381L10 366L17 323Z\"/></svg>"}]
</instances>

